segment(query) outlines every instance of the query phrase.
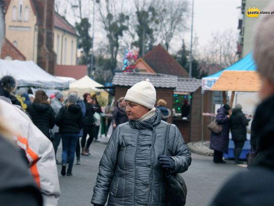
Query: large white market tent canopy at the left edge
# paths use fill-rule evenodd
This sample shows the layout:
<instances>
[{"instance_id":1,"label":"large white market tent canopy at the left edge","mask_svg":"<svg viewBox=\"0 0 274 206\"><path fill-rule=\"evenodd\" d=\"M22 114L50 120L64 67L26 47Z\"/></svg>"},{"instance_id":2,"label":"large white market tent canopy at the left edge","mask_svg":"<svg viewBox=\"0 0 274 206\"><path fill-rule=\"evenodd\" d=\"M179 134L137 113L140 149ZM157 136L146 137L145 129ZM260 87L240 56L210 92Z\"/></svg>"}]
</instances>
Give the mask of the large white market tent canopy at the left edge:
<instances>
[{"instance_id":1,"label":"large white market tent canopy at the left edge","mask_svg":"<svg viewBox=\"0 0 274 206\"><path fill-rule=\"evenodd\" d=\"M37 87L64 90L69 82L51 75L32 61L0 59L0 76L12 75L17 80L17 87Z\"/></svg>"}]
</instances>

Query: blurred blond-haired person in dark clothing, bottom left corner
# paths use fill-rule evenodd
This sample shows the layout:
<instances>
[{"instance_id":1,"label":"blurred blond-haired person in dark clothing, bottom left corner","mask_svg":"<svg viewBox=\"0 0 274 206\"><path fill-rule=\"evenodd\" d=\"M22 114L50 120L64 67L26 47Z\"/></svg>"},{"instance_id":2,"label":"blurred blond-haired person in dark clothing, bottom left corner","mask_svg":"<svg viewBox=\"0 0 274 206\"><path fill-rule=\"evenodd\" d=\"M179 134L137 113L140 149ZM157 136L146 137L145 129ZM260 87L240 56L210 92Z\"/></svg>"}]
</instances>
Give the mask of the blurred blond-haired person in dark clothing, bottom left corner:
<instances>
[{"instance_id":1,"label":"blurred blond-haired person in dark clothing, bottom left corner","mask_svg":"<svg viewBox=\"0 0 274 206\"><path fill-rule=\"evenodd\" d=\"M4 120L0 118L0 205L42 206L42 195L16 145L15 133Z\"/></svg>"}]
</instances>

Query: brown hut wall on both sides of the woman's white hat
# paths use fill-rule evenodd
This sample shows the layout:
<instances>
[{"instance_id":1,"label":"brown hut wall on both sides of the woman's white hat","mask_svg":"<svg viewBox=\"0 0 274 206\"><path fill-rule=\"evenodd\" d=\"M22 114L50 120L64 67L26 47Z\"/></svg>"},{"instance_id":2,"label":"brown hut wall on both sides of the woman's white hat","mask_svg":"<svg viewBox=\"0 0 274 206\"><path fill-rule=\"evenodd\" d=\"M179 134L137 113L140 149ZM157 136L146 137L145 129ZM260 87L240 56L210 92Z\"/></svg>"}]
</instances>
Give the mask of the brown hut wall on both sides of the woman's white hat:
<instances>
[{"instance_id":1,"label":"brown hut wall on both sides of the woman's white hat","mask_svg":"<svg viewBox=\"0 0 274 206\"><path fill-rule=\"evenodd\" d=\"M120 97L124 97L126 95L127 90L130 87L115 87L115 101L117 101ZM156 104L159 99L164 99L166 101L166 107L172 111L173 104L173 89L163 89L163 88L155 88L156 89ZM173 121L172 116L167 119L167 122L171 123Z\"/></svg>"}]
</instances>

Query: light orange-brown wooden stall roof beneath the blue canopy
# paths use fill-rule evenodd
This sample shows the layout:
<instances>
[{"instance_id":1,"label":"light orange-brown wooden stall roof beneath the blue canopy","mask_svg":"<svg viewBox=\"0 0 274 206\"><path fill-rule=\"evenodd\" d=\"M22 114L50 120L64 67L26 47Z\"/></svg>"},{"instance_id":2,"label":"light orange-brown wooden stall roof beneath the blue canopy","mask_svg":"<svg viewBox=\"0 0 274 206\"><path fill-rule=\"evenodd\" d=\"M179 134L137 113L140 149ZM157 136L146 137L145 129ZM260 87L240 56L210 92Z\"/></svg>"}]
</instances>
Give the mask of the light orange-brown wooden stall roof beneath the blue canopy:
<instances>
[{"instance_id":1,"label":"light orange-brown wooden stall roof beneath the blue canopy","mask_svg":"<svg viewBox=\"0 0 274 206\"><path fill-rule=\"evenodd\" d=\"M224 71L211 90L258 92L261 89L261 77L257 71Z\"/></svg>"}]
</instances>

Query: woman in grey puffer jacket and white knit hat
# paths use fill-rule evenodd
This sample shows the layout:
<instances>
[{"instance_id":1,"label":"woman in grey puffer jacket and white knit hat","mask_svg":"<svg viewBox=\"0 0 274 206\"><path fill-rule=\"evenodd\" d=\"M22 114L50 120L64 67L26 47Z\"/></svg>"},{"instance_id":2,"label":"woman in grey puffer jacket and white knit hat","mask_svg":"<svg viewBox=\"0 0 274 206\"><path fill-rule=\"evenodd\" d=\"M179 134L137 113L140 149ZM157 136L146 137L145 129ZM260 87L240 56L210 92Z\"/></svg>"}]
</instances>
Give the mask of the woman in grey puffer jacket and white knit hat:
<instances>
[{"instance_id":1,"label":"woman in grey puffer jacket and white knit hat","mask_svg":"<svg viewBox=\"0 0 274 206\"><path fill-rule=\"evenodd\" d=\"M170 127L167 156L162 155L168 123L154 107L156 91L146 81L132 86L125 96L129 121L117 126L99 163L91 203L105 205L165 206L162 168L183 173L191 153L180 131Z\"/></svg>"}]
</instances>

